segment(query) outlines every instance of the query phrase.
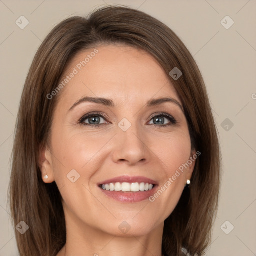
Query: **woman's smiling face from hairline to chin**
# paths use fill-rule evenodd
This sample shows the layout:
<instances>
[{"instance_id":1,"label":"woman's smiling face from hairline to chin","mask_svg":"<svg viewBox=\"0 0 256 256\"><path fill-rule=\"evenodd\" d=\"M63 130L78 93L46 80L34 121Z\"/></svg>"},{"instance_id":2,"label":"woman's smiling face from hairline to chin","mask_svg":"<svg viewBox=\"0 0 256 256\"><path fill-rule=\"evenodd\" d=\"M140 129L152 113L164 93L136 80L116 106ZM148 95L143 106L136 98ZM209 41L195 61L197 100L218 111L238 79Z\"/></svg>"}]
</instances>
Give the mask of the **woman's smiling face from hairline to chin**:
<instances>
[{"instance_id":1,"label":"woman's smiling face from hairline to chin","mask_svg":"<svg viewBox=\"0 0 256 256\"><path fill-rule=\"evenodd\" d=\"M195 163L170 77L143 50L105 45L79 52L61 82L41 153L67 229L123 236L162 228Z\"/></svg>"}]
</instances>

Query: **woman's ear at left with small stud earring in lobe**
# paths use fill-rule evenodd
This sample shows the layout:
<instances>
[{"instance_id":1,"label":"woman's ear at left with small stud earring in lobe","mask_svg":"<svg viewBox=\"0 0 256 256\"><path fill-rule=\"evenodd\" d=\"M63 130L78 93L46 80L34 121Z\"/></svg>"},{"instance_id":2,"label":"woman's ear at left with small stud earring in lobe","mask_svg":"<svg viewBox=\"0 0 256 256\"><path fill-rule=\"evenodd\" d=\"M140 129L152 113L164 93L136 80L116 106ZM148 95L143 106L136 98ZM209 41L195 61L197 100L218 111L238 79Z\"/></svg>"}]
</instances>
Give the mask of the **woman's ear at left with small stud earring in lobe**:
<instances>
[{"instance_id":1,"label":"woman's ear at left with small stud earring in lobe","mask_svg":"<svg viewBox=\"0 0 256 256\"><path fill-rule=\"evenodd\" d=\"M39 166L43 182L52 183L54 181L52 155L47 145L40 147Z\"/></svg>"}]
</instances>

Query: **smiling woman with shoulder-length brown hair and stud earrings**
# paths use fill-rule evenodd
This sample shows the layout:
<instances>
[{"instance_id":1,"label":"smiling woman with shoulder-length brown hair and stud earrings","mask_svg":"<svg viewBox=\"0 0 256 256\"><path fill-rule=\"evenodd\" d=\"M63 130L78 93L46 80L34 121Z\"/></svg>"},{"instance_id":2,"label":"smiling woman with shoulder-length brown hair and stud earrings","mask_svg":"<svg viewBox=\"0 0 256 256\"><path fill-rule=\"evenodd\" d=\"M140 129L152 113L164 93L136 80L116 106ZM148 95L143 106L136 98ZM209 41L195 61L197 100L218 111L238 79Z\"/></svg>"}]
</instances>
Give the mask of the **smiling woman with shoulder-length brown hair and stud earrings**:
<instances>
[{"instance_id":1,"label":"smiling woman with shoulder-length brown hair and stud earrings","mask_svg":"<svg viewBox=\"0 0 256 256\"><path fill-rule=\"evenodd\" d=\"M217 132L187 48L108 6L59 23L27 75L10 203L23 255L203 255ZM22 231L21 231L22 230Z\"/></svg>"}]
</instances>

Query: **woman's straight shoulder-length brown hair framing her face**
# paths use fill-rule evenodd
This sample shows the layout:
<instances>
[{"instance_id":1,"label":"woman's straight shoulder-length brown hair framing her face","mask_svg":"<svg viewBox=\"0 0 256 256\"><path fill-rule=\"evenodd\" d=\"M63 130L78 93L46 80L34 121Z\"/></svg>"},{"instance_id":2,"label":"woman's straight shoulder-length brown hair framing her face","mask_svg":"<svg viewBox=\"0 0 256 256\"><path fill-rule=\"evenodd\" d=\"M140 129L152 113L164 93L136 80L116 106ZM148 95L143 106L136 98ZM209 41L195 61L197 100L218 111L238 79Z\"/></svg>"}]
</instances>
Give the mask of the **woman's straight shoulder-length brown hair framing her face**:
<instances>
[{"instance_id":1,"label":"woman's straight shoulder-length brown hair framing her face","mask_svg":"<svg viewBox=\"0 0 256 256\"><path fill-rule=\"evenodd\" d=\"M167 255L203 255L209 244L219 193L220 153L214 119L200 71L177 35L141 11L108 6L89 17L70 17L44 39L28 72L15 129L9 186L13 224L23 220L29 229L15 232L25 255L56 255L66 242L61 195L56 183L45 184L38 163L39 148L48 142L52 113L59 95L51 93L74 55L86 48L124 43L152 54L169 75L183 104L192 147L201 152L190 188L185 188L164 222L162 251ZM181 248L183 248L181 250Z\"/></svg>"}]
</instances>

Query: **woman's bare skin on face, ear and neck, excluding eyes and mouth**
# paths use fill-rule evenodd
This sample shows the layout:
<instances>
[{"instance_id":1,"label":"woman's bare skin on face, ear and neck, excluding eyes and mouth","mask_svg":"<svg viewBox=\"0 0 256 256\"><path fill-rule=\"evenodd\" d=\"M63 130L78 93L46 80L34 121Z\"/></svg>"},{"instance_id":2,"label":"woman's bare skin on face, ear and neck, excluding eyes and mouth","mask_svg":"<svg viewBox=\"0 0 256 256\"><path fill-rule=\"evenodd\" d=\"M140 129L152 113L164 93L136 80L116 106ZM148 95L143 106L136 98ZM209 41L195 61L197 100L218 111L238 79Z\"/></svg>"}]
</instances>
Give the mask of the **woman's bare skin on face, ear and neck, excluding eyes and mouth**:
<instances>
[{"instance_id":1,"label":"woman's bare skin on face, ear and neck, excluding eyes and mouth","mask_svg":"<svg viewBox=\"0 0 256 256\"><path fill-rule=\"evenodd\" d=\"M171 102L147 107L146 102L171 97L182 105L181 100L149 53L125 45L97 49L58 95L50 145L40 151L42 179L55 181L63 198L67 241L57 256L160 256L164 220L175 208L195 161L154 202L119 202L107 197L97 183L130 175L145 176L163 186L195 152L181 108ZM79 52L63 77L93 50ZM111 98L115 106L83 102L69 110L84 96ZM104 124L78 123L92 111L108 117L100 118ZM164 124L171 125L153 121L152 115L162 112L174 117L176 124L164 116ZM123 118L131 123L127 131L118 127ZM80 175L74 183L67 178L72 169ZM130 226L125 234L118 228L123 221Z\"/></svg>"}]
</instances>

